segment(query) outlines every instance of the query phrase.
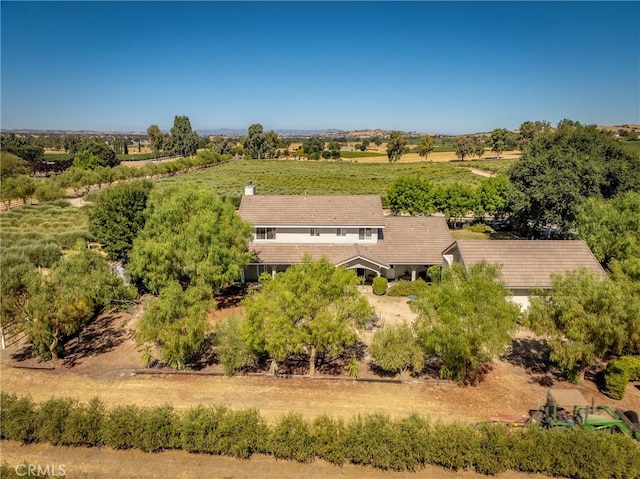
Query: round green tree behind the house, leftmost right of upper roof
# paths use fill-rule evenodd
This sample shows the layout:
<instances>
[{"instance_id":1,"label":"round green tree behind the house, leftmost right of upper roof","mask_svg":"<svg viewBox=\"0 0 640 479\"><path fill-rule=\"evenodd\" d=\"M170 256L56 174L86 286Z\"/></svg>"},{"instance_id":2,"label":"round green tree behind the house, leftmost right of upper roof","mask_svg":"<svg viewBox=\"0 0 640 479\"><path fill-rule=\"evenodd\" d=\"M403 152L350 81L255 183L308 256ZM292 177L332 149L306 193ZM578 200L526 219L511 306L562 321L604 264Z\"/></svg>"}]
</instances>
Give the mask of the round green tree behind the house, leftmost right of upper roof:
<instances>
[{"instance_id":1,"label":"round green tree behind the house, leftmost right of upper roof","mask_svg":"<svg viewBox=\"0 0 640 479\"><path fill-rule=\"evenodd\" d=\"M387 191L389 208L395 215L409 213L410 215L429 216L435 213L435 188L427 179L415 176L401 176L396 178Z\"/></svg>"}]
</instances>

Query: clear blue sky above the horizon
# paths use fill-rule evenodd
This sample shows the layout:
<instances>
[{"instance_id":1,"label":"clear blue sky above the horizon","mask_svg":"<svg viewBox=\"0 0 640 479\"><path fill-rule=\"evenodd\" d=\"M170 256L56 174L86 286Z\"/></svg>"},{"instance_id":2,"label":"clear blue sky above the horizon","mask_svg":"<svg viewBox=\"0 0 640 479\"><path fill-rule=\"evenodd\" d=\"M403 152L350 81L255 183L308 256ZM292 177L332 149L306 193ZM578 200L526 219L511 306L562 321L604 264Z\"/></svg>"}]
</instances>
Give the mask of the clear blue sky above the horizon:
<instances>
[{"instance_id":1,"label":"clear blue sky above the horizon","mask_svg":"<svg viewBox=\"0 0 640 479\"><path fill-rule=\"evenodd\" d=\"M639 2L6 2L3 129L640 123Z\"/></svg>"}]
</instances>

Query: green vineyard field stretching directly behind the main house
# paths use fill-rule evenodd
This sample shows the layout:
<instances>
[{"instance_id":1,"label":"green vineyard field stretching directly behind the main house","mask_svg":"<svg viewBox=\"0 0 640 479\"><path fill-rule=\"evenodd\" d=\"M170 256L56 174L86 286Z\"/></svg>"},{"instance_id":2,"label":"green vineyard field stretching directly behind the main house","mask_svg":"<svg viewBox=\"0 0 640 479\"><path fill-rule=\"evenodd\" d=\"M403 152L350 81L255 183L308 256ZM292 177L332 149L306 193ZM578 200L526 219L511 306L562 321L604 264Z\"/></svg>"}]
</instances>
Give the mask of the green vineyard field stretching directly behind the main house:
<instances>
[{"instance_id":1,"label":"green vineyard field stretching directly behind the main house","mask_svg":"<svg viewBox=\"0 0 640 479\"><path fill-rule=\"evenodd\" d=\"M468 168L503 173L510 160L457 163L356 163L347 161L242 160L164 178L158 185L199 183L222 196L240 196L252 181L258 194L386 195L391 183L403 175L419 175L435 184L455 182L478 185L483 177Z\"/></svg>"}]
</instances>

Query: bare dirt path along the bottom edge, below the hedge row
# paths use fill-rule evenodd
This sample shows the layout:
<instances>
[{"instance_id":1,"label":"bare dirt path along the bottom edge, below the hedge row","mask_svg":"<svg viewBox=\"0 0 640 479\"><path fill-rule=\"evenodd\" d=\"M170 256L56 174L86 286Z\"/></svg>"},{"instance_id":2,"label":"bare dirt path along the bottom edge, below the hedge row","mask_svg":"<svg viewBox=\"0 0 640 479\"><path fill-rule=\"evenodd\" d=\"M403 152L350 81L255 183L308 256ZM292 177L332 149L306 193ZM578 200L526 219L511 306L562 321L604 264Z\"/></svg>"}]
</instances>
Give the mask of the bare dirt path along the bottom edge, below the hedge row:
<instances>
[{"instance_id":1,"label":"bare dirt path along the bottom edge, below the hedge row","mask_svg":"<svg viewBox=\"0 0 640 479\"><path fill-rule=\"evenodd\" d=\"M206 454L167 451L146 454L140 451L115 451L107 448L54 447L49 445L20 445L13 441L0 443L2 460L15 467L28 464L55 466L65 477L74 478L155 478L176 479L228 478L245 479L486 479L487 476L470 471L449 471L428 466L416 472L385 472L372 467L346 464L334 466L325 461L300 464L278 461L271 456L255 455L250 460L233 459ZM22 470L20 469L19 472ZM541 479L545 476L507 472L497 479Z\"/></svg>"}]
</instances>

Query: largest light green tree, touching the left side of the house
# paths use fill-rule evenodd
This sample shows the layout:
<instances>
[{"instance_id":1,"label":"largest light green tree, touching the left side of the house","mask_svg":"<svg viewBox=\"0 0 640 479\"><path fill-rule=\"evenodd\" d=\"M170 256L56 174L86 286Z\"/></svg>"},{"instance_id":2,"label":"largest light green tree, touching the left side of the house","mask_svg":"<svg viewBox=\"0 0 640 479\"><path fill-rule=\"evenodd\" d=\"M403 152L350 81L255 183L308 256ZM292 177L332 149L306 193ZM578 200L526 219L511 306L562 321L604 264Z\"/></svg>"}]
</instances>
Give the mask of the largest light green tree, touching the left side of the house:
<instances>
[{"instance_id":1,"label":"largest light green tree, touching the left side of the house","mask_svg":"<svg viewBox=\"0 0 640 479\"><path fill-rule=\"evenodd\" d=\"M129 272L150 291L173 281L211 292L237 280L249 262L253 230L233 205L204 187L152 190L147 221L129 253Z\"/></svg>"}]
</instances>

